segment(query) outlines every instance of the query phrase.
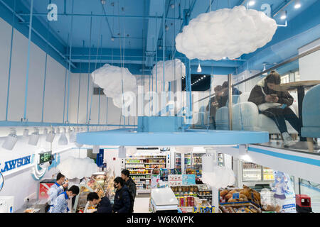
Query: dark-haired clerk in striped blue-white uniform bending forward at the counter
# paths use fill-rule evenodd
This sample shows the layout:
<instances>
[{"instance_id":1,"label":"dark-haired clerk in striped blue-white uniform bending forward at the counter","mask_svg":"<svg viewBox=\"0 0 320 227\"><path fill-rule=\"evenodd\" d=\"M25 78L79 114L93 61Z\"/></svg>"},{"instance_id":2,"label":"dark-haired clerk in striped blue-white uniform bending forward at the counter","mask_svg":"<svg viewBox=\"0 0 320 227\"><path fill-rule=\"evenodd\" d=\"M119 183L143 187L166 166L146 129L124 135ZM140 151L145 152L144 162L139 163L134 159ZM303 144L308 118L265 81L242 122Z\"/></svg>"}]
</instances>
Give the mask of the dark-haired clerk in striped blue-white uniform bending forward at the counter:
<instances>
[{"instance_id":1,"label":"dark-haired clerk in striped blue-white uniform bending forward at the counter","mask_svg":"<svg viewBox=\"0 0 320 227\"><path fill-rule=\"evenodd\" d=\"M73 185L70 189L67 189L67 191L60 194L57 199L55 199L51 213L67 213L69 211L68 199L72 199L73 196L77 196L79 191L79 187Z\"/></svg>"}]
</instances>

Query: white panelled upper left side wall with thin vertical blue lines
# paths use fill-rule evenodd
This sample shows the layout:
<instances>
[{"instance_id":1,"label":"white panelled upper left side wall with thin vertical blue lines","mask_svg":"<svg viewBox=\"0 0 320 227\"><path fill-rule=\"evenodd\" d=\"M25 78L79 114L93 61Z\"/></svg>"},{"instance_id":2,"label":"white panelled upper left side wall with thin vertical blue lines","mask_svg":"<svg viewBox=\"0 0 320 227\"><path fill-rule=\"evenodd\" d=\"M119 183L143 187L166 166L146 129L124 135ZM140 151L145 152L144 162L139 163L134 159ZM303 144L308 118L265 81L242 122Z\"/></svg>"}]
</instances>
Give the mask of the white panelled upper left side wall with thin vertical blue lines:
<instances>
[{"instance_id":1,"label":"white panelled upper left side wall with thin vertical blue lines","mask_svg":"<svg viewBox=\"0 0 320 227\"><path fill-rule=\"evenodd\" d=\"M0 121L4 121L9 77L11 26L1 18L0 31ZM9 121L20 121L23 118L27 53L28 39L14 29L9 92ZM41 121L45 63L46 53L31 43L26 109L28 121ZM64 67L48 56L44 121L63 121L64 81Z\"/></svg>"}]
</instances>

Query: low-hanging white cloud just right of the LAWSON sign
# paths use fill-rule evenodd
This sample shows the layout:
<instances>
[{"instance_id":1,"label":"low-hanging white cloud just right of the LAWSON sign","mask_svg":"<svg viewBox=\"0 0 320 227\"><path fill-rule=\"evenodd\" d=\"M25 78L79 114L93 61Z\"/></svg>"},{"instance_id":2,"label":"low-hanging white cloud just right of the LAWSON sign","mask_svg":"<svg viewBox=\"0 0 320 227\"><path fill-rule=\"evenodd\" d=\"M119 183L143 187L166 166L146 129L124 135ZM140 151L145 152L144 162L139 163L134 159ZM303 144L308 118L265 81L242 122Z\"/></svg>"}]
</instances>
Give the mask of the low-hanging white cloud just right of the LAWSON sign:
<instances>
[{"instance_id":1,"label":"low-hanging white cloud just right of the LAWSON sign","mask_svg":"<svg viewBox=\"0 0 320 227\"><path fill-rule=\"evenodd\" d=\"M97 164L89 157L68 157L63 162L60 162L57 168L69 179L91 177L93 173L97 172Z\"/></svg>"}]
</instances>

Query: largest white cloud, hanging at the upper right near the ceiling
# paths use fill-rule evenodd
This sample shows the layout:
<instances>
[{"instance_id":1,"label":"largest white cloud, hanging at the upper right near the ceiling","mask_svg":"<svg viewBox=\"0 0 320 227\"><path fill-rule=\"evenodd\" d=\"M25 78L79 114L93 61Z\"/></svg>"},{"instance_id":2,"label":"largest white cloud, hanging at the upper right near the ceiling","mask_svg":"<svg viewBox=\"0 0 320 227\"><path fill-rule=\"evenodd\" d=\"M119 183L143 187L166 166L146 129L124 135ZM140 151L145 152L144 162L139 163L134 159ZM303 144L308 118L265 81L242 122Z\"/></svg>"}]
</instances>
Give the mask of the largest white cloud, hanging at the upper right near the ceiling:
<instances>
[{"instance_id":1,"label":"largest white cloud, hanging at the upper right near the ceiling","mask_svg":"<svg viewBox=\"0 0 320 227\"><path fill-rule=\"evenodd\" d=\"M233 59L262 48L276 30L276 21L261 11L245 6L219 9L192 19L176 36L176 50L189 59Z\"/></svg>"}]
</instances>

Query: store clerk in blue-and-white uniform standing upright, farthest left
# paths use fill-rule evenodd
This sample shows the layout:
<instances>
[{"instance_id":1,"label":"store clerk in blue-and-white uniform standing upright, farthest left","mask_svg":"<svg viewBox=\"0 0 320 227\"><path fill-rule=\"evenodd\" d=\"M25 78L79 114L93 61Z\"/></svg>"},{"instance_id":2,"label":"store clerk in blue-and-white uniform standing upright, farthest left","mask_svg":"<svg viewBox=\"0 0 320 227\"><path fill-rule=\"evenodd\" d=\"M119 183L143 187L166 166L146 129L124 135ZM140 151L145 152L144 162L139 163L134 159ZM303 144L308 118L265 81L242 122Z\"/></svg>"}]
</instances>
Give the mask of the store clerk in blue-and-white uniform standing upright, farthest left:
<instances>
[{"instance_id":1,"label":"store clerk in blue-and-white uniform standing upright, farthest left","mask_svg":"<svg viewBox=\"0 0 320 227\"><path fill-rule=\"evenodd\" d=\"M46 205L46 212L51 213L55 199L57 199L58 195L63 193L65 191L65 188L68 187L68 183L64 183L64 182L65 182L65 176L59 172L57 175L57 181L48 190L49 198L48 198L48 204Z\"/></svg>"}]
</instances>

